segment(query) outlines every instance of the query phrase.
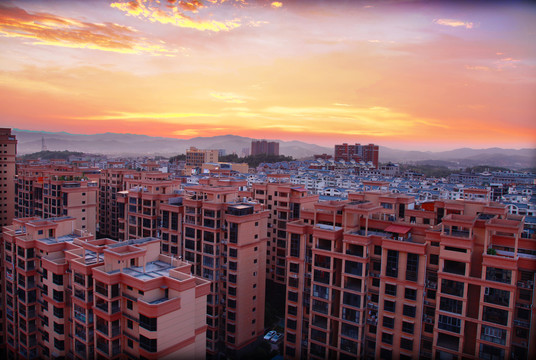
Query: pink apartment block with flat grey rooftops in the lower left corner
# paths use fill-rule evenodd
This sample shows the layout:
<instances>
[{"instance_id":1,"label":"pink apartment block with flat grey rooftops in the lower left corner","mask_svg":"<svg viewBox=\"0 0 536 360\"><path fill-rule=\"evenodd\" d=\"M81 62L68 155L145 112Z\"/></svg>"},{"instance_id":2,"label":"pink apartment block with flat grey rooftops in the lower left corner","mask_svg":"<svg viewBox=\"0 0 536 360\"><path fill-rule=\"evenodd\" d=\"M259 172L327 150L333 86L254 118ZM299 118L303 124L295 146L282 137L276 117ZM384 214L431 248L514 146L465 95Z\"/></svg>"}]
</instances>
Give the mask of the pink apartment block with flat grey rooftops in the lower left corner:
<instances>
[{"instance_id":1,"label":"pink apartment block with flat grey rooftops in the lower left corner","mask_svg":"<svg viewBox=\"0 0 536 360\"><path fill-rule=\"evenodd\" d=\"M7 358L204 359L209 282L156 238L94 240L75 223L4 227Z\"/></svg>"}]
</instances>

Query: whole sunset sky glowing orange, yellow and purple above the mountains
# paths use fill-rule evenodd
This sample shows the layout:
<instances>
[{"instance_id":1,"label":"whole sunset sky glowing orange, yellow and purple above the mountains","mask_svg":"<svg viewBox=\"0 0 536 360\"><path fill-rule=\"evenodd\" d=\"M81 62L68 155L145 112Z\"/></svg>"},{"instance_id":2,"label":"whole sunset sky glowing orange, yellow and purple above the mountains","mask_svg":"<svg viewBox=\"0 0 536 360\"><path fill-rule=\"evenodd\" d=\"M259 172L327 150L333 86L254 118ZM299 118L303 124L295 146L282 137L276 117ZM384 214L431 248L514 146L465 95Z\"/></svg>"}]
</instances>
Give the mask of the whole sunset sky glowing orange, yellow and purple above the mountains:
<instances>
[{"instance_id":1,"label":"whole sunset sky glowing orange, yellow and purple above the mountains","mask_svg":"<svg viewBox=\"0 0 536 360\"><path fill-rule=\"evenodd\" d=\"M536 147L536 6L1 1L0 126Z\"/></svg>"}]
</instances>

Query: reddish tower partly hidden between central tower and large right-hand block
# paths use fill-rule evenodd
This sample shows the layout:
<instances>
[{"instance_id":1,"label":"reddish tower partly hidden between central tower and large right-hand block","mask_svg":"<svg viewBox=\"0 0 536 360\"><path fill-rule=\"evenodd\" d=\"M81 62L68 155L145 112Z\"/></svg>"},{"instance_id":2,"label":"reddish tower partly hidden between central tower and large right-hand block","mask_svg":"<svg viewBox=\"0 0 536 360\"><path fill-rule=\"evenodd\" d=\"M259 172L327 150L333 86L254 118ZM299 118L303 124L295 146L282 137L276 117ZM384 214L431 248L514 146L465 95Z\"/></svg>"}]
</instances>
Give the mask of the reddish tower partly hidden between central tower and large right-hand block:
<instances>
[{"instance_id":1,"label":"reddish tower partly hidden between central tower and large right-hand block","mask_svg":"<svg viewBox=\"0 0 536 360\"><path fill-rule=\"evenodd\" d=\"M301 208L318 201L318 195L309 195L288 180L288 175L270 175L267 183L253 184L251 190L251 197L269 214L266 277L282 285L286 282L287 224L300 218Z\"/></svg>"}]
</instances>

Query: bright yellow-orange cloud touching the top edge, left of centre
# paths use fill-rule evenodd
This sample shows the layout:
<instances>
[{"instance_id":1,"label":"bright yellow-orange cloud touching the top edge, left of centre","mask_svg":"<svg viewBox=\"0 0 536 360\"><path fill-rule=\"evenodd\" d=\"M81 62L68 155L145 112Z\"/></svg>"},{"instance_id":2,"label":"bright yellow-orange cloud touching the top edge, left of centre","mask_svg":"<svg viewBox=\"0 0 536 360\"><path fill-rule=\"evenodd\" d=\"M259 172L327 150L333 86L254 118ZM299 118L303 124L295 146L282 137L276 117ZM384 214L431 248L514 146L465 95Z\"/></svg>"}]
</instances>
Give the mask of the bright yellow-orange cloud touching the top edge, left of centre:
<instances>
[{"instance_id":1,"label":"bright yellow-orange cloud touching the top edge, left of centre","mask_svg":"<svg viewBox=\"0 0 536 360\"><path fill-rule=\"evenodd\" d=\"M225 2L225 0L220 1L221 3ZM161 1L153 0L132 0L117 1L110 6L140 19L200 31L230 31L241 26L240 19L237 18L220 21L211 19L212 14L208 14L206 18L203 18L200 10L206 8L206 6L197 0L168 1L165 5L162 3ZM210 3L217 4L217 1L210 1ZM244 4L243 1L236 1L236 3Z\"/></svg>"}]
</instances>

